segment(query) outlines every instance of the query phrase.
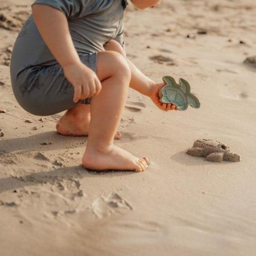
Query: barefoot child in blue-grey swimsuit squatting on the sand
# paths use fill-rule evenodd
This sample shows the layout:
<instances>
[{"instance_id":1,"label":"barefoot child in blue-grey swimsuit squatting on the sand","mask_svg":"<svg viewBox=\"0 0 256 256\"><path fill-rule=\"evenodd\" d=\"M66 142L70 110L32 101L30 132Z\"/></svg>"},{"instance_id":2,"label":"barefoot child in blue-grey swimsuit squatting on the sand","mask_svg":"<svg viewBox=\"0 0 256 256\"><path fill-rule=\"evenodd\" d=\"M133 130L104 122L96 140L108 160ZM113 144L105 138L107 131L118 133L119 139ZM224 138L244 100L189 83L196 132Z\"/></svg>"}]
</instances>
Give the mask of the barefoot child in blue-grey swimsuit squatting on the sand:
<instances>
[{"instance_id":1,"label":"barefoot child in blue-grey swimsuit squatting on the sand","mask_svg":"<svg viewBox=\"0 0 256 256\"><path fill-rule=\"evenodd\" d=\"M131 0L141 9L159 0ZM116 147L128 87L159 101L157 84L125 57L123 12L126 0L36 0L15 42L11 61L14 95L34 115L67 110L57 123L62 135L88 135L85 168L135 170L148 167Z\"/></svg>"}]
</instances>

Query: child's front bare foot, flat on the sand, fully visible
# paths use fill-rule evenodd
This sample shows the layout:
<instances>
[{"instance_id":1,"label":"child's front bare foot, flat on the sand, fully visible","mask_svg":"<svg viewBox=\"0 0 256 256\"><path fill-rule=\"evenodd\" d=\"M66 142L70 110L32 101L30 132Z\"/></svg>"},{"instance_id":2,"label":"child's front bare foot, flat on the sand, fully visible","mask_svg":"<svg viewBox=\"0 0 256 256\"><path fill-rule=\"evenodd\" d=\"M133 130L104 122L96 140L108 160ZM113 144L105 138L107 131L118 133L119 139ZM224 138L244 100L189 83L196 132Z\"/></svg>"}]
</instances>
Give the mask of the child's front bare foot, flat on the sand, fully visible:
<instances>
[{"instance_id":1,"label":"child's front bare foot, flat on the sand, fully visible","mask_svg":"<svg viewBox=\"0 0 256 256\"><path fill-rule=\"evenodd\" d=\"M124 149L114 145L109 148L96 149L87 148L82 165L85 168L104 171L104 170L135 170L137 172L145 171L149 161L145 158L137 158Z\"/></svg>"}]
</instances>

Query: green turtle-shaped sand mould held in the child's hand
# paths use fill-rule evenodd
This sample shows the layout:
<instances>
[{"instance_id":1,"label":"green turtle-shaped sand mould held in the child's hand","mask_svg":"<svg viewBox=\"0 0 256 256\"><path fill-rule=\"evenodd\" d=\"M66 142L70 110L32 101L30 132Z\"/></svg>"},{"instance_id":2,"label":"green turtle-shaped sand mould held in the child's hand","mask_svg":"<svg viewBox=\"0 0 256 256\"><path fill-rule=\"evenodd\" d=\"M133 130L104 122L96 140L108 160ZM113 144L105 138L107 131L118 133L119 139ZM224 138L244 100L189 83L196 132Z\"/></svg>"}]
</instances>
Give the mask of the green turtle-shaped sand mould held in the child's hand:
<instances>
[{"instance_id":1,"label":"green turtle-shaped sand mould held in the child's hand","mask_svg":"<svg viewBox=\"0 0 256 256\"><path fill-rule=\"evenodd\" d=\"M200 102L194 94L190 93L189 83L180 78L179 84L171 76L164 76L163 81L166 83L160 92L159 97L162 103L172 103L179 110L186 110L189 105L193 108L200 108Z\"/></svg>"}]
</instances>

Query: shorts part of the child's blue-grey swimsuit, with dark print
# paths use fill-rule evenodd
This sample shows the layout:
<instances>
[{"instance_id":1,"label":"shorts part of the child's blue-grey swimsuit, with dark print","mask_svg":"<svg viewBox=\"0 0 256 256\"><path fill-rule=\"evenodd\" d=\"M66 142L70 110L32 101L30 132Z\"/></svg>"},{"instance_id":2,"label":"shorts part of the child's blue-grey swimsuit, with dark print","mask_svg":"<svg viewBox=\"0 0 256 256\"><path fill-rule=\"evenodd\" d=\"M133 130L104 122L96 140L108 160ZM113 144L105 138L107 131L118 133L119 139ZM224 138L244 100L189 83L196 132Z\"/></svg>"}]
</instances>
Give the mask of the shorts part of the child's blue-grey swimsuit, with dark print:
<instances>
[{"instance_id":1,"label":"shorts part of the child's blue-grey swimsuit, with dark print","mask_svg":"<svg viewBox=\"0 0 256 256\"><path fill-rule=\"evenodd\" d=\"M81 61L96 72L97 54L81 55ZM20 81L23 80L23 83ZM57 63L31 67L19 74L13 83L13 93L20 106L34 115L54 115L77 104L90 104L91 99L74 103L74 87Z\"/></svg>"}]
</instances>

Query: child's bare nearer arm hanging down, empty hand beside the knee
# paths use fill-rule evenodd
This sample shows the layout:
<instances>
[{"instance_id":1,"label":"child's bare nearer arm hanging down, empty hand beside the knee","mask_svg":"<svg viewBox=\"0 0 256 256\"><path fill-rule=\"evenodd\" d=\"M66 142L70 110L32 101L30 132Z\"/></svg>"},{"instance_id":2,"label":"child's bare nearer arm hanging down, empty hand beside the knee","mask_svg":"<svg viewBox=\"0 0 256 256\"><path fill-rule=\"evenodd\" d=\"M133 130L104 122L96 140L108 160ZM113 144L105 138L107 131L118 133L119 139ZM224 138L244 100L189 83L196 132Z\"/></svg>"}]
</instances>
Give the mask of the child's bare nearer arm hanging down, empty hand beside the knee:
<instances>
[{"instance_id":1,"label":"child's bare nearer arm hanging down, empty hand beside the knee","mask_svg":"<svg viewBox=\"0 0 256 256\"><path fill-rule=\"evenodd\" d=\"M74 102L99 94L101 82L95 72L81 62L64 13L42 4L35 4L32 10L43 40L74 86Z\"/></svg>"}]
</instances>

